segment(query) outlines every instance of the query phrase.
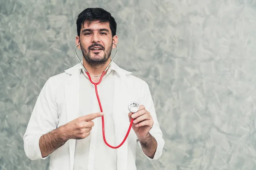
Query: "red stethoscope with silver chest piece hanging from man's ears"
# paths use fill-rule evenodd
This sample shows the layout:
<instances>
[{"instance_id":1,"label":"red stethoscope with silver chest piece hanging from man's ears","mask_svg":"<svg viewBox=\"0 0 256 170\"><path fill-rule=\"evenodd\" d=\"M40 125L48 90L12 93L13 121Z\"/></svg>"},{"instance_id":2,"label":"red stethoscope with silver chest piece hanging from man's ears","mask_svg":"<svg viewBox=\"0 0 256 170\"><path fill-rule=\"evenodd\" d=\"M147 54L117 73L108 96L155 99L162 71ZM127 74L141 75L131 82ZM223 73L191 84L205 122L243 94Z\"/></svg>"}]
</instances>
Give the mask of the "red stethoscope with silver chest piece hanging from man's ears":
<instances>
[{"instance_id":1,"label":"red stethoscope with silver chest piece hanging from man's ears","mask_svg":"<svg viewBox=\"0 0 256 170\"><path fill-rule=\"evenodd\" d=\"M113 43L113 44L116 45L115 43ZM76 48L77 48L78 45L80 45L80 43L76 45ZM76 48L75 48L75 53L76 53ZM116 45L116 53L115 53L113 59L116 57L117 51L118 51L118 47L117 47L117 45ZM100 74L101 77L100 77L100 79L99 79L99 82L93 82L93 80L91 79L91 75L88 73L88 71L87 71L86 68L84 67L83 63L81 62L81 60L79 59L79 57L77 56L77 54L76 54L76 57L78 58L80 64L83 66L83 68L84 68L84 70L85 70L87 76L88 76L89 79L90 79L90 82L91 82L91 83L94 85L94 87L95 87L95 93L96 93L96 96L97 96L97 99L98 99L98 102L99 102L99 108L100 108L100 111L103 112L103 110L102 110L102 105L101 105L101 102L100 102L100 99L99 99L99 94L98 94L98 90L97 90L97 85L99 85L99 83L102 81L102 77L103 77L103 75L105 74L106 70L108 70L108 68L109 68L109 66L110 66L110 64L111 64L111 62L113 62L113 59L111 59L111 62L108 64L107 68L105 68L105 70L102 72L102 74ZM137 111L139 110L139 104L137 104L136 102L131 102L131 103L128 105L128 110L129 110L131 113L137 112ZM122 144L124 144L125 140L127 139L128 135L129 135L129 133L130 133L132 124L133 124L133 118L131 118L130 126L129 126L128 131L127 131L127 133L126 133L126 135L125 135L125 138L123 139L123 141L121 142L121 144L119 144L118 146L111 146L110 144L108 144L108 142L107 142L107 140L106 140L106 138L105 138L104 116L102 116L102 135L103 135L103 139L104 139L105 144L107 144L108 147L111 147L111 148L113 148L113 149L117 149L117 148L119 148L120 146L122 146Z\"/></svg>"}]
</instances>

